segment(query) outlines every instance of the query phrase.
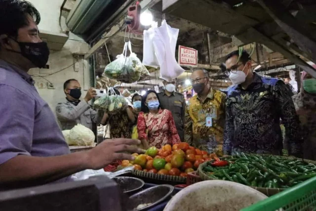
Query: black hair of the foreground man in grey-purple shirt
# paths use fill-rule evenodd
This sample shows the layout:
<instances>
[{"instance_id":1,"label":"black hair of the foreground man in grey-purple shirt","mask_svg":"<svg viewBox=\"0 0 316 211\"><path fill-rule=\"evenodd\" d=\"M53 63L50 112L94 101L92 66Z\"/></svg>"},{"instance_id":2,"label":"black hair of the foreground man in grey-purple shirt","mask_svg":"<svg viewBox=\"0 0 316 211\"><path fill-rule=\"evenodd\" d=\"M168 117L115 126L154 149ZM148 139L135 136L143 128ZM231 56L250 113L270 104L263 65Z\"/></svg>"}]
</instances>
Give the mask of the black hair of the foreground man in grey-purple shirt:
<instances>
[{"instance_id":1,"label":"black hair of the foreground man in grey-purple shirt","mask_svg":"<svg viewBox=\"0 0 316 211\"><path fill-rule=\"evenodd\" d=\"M40 12L35 6L25 0L0 0L0 35L16 38L18 30L28 26L28 15L34 22L40 23Z\"/></svg>"}]
</instances>

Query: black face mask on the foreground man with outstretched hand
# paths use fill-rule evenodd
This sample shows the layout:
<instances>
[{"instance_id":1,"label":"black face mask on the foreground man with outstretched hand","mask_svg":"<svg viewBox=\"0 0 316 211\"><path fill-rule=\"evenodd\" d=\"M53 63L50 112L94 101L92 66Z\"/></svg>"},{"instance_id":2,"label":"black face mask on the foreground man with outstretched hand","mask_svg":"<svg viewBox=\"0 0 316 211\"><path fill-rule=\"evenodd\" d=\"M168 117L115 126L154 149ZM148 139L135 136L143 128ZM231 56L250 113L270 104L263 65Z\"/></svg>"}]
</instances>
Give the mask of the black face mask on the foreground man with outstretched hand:
<instances>
[{"instance_id":1,"label":"black face mask on the foreground man with outstretched hand","mask_svg":"<svg viewBox=\"0 0 316 211\"><path fill-rule=\"evenodd\" d=\"M30 60L36 67L43 68L47 64L49 57L49 49L46 42L18 42L21 52L10 50L16 53L21 53L22 56Z\"/></svg>"}]
</instances>

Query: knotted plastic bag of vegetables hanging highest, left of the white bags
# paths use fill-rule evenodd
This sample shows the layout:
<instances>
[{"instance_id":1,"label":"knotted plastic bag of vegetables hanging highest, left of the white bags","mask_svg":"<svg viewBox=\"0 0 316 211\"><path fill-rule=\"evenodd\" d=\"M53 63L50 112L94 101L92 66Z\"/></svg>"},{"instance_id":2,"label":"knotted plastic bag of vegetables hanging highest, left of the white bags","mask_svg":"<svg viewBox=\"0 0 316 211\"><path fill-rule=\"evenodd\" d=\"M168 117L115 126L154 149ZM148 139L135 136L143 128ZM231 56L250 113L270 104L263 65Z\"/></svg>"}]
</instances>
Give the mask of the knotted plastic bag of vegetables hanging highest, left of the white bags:
<instances>
[{"instance_id":1,"label":"knotted plastic bag of vegetables hanging highest, left of the white bags","mask_svg":"<svg viewBox=\"0 0 316 211\"><path fill-rule=\"evenodd\" d=\"M129 56L126 56L127 48L130 51ZM105 67L104 75L123 83L134 83L140 79L142 74L146 74L146 71L148 72L146 67L137 58L137 55L132 52L131 43L125 42L123 53Z\"/></svg>"}]
</instances>

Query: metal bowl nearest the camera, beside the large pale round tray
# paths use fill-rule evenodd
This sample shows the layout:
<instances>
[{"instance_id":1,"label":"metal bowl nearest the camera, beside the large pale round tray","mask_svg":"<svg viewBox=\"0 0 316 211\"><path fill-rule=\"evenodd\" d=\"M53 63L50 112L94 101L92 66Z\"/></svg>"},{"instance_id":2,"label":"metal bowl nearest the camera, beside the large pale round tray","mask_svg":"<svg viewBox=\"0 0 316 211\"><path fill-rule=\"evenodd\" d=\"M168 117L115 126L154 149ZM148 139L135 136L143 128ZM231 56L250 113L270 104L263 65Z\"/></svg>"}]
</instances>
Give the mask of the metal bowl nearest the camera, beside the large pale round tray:
<instances>
[{"instance_id":1,"label":"metal bowl nearest the camera, beside the large pale round tray","mask_svg":"<svg viewBox=\"0 0 316 211\"><path fill-rule=\"evenodd\" d=\"M150 204L147 207L141 208L137 211L147 210L158 205L167 199L173 192L171 185L158 185L152 188L140 191L129 197L128 208L129 211L136 211L138 205Z\"/></svg>"}]
</instances>

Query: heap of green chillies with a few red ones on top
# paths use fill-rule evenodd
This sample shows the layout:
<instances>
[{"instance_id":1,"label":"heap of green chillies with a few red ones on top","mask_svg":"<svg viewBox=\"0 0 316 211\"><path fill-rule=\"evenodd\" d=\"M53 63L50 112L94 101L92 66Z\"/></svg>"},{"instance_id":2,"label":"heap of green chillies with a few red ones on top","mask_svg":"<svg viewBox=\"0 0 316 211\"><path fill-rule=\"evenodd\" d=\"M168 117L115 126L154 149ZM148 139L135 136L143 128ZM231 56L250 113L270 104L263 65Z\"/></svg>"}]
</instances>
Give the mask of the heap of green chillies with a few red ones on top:
<instances>
[{"instance_id":1,"label":"heap of green chillies with a few red ones on top","mask_svg":"<svg viewBox=\"0 0 316 211\"><path fill-rule=\"evenodd\" d=\"M221 165L218 162L222 162ZM222 158L222 161L215 159L208 162L202 171L212 179L264 188L289 188L316 176L316 166L311 163L280 156L244 153Z\"/></svg>"}]
</instances>

